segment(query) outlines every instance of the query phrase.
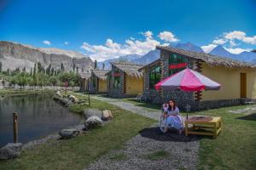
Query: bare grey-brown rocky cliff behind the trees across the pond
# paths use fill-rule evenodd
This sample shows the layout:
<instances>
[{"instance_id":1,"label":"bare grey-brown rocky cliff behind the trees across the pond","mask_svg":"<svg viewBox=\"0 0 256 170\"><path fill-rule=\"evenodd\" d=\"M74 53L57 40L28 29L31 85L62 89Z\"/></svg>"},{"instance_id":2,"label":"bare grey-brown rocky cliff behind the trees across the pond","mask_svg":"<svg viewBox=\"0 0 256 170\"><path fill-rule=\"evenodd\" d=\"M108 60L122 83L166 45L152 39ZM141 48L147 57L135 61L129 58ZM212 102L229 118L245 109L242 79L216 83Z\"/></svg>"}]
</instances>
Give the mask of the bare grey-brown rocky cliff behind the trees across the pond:
<instances>
[{"instance_id":1,"label":"bare grey-brown rocky cliff behind the trees across the pond","mask_svg":"<svg viewBox=\"0 0 256 170\"><path fill-rule=\"evenodd\" d=\"M30 71L35 63L40 62L44 68L51 64L55 70L61 69L61 63L65 71L73 71L73 66L79 67L79 71L90 71L94 62L84 54L57 48L34 48L16 42L0 41L0 61L3 71L26 67Z\"/></svg>"}]
</instances>

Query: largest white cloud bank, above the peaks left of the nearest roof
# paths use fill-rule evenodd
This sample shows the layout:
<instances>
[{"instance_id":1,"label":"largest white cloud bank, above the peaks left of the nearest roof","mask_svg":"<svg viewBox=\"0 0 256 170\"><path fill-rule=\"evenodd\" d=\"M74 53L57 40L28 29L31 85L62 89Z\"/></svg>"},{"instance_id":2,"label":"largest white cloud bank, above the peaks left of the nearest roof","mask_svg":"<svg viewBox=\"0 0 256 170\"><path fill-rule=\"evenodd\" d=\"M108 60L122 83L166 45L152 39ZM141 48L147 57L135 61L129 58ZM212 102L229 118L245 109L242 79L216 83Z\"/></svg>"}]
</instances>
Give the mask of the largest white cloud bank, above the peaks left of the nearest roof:
<instances>
[{"instance_id":1,"label":"largest white cloud bank, above the peaks left of the nearest roof","mask_svg":"<svg viewBox=\"0 0 256 170\"><path fill-rule=\"evenodd\" d=\"M103 45L91 45L84 42L81 46L90 58L97 59L98 61L113 59L126 54L147 54L149 51L154 50L157 45L170 45L169 43L160 43L153 37L152 31L141 32L144 40L137 40L129 38L125 40L124 44L114 42L113 39L108 38Z\"/></svg>"}]
</instances>

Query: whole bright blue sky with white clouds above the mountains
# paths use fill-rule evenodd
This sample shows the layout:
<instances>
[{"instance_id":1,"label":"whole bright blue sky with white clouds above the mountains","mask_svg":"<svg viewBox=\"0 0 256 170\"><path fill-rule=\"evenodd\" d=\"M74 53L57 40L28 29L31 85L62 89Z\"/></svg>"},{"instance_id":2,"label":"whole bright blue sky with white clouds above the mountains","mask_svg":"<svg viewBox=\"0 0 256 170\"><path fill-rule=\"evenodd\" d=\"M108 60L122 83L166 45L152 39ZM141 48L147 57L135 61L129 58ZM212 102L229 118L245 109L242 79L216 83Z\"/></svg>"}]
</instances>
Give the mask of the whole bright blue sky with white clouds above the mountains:
<instances>
[{"instance_id":1,"label":"whole bright blue sky with white clouds above the mountains","mask_svg":"<svg viewBox=\"0 0 256 170\"><path fill-rule=\"evenodd\" d=\"M0 40L100 60L177 42L239 53L256 48L255 8L256 0L0 0Z\"/></svg>"}]
</instances>

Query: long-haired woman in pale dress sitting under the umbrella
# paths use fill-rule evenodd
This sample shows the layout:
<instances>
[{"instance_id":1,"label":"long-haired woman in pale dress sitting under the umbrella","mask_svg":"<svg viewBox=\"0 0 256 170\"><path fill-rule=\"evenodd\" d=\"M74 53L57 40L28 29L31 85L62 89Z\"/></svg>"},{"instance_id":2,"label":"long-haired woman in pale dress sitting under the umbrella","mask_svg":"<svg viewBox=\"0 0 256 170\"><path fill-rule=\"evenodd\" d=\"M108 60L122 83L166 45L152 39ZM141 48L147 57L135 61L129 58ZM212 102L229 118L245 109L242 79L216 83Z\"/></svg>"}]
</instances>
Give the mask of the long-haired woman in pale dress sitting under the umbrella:
<instances>
[{"instance_id":1,"label":"long-haired woman in pale dress sitting under the umbrella","mask_svg":"<svg viewBox=\"0 0 256 170\"><path fill-rule=\"evenodd\" d=\"M173 99L169 101L168 108L166 108L167 114L165 114L165 124L166 127L164 129L164 133L167 132L168 127L176 128L181 134L183 132L183 119L179 115L179 110L177 108L177 105Z\"/></svg>"}]
</instances>

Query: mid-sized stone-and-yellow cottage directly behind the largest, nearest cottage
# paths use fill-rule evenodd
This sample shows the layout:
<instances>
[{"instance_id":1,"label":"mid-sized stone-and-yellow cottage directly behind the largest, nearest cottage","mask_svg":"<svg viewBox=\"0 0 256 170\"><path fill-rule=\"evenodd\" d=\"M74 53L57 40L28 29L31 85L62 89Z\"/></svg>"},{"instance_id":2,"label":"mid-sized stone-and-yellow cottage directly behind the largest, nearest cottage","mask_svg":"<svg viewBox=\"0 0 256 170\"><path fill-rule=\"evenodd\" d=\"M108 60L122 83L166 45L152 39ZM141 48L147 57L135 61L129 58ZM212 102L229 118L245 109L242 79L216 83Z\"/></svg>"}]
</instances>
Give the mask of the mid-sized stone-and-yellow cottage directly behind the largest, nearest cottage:
<instances>
[{"instance_id":1,"label":"mid-sized stone-and-yellow cottage directly behind the largest, nearest cottage","mask_svg":"<svg viewBox=\"0 0 256 170\"><path fill-rule=\"evenodd\" d=\"M108 95L113 98L134 97L143 93L143 65L127 62L112 62L108 72Z\"/></svg>"}]
</instances>

